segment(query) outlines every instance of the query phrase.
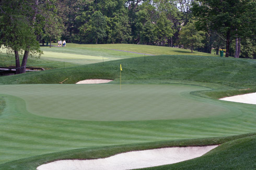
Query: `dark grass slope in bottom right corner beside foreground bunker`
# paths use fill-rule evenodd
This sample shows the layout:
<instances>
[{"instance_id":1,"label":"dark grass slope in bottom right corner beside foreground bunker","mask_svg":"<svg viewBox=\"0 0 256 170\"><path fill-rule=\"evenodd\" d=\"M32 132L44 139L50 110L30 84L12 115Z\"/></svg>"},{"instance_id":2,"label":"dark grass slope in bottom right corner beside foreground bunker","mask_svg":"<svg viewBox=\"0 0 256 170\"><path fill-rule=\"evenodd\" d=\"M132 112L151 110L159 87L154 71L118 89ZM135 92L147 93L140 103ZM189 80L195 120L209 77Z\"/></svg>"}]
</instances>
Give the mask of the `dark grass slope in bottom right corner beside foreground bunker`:
<instances>
[{"instance_id":1,"label":"dark grass slope in bottom right corner beside foreground bunker","mask_svg":"<svg viewBox=\"0 0 256 170\"><path fill-rule=\"evenodd\" d=\"M200 158L171 165L143 168L144 170L169 169L256 169L256 136L231 140Z\"/></svg>"}]
</instances>

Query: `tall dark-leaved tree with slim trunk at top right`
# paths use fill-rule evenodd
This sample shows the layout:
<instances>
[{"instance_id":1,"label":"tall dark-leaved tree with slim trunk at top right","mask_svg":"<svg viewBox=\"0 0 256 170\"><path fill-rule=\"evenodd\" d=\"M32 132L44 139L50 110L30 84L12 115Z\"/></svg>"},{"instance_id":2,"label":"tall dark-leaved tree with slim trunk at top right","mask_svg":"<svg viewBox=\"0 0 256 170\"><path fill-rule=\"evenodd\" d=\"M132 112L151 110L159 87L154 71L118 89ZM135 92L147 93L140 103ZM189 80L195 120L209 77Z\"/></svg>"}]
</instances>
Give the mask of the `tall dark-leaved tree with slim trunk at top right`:
<instances>
[{"instance_id":1,"label":"tall dark-leaved tree with slim trunk at top right","mask_svg":"<svg viewBox=\"0 0 256 170\"><path fill-rule=\"evenodd\" d=\"M245 37L246 30L255 25L255 2L253 0L201 0L193 4L193 14L198 17L197 28L216 30L226 38L226 57L232 38ZM252 9L254 8L254 9ZM250 15L248 15L250 14ZM249 22L252 25L249 25ZM255 35L255 33L254 33Z\"/></svg>"}]
</instances>

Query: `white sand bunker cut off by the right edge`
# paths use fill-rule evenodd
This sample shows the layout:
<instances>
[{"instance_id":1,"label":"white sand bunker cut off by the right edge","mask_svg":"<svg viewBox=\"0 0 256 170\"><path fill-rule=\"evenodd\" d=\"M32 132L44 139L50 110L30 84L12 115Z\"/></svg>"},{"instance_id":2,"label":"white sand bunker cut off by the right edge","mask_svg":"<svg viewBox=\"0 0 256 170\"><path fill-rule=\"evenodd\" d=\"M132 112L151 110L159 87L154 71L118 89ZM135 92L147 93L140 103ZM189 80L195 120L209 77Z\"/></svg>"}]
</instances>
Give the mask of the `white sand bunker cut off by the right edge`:
<instances>
[{"instance_id":1,"label":"white sand bunker cut off by the right edge","mask_svg":"<svg viewBox=\"0 0 256 170\"><path fill-rule=\"evenodd\" d=\"M234 101L239 103L256 104L256 93L225 97L220 100Z\"/></svg>"}]
</instances>

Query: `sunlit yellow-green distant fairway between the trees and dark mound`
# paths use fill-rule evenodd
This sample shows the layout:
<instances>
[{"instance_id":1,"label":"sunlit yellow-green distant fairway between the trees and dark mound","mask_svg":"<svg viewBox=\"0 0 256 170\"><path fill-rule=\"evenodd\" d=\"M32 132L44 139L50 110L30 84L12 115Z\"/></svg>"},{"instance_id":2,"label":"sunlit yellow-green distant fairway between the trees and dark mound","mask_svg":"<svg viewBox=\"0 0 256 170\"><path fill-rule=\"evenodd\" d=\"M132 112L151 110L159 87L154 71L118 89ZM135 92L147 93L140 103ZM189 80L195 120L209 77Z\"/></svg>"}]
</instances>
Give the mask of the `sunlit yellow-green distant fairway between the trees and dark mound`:
<instances>
[{"instance_id":1,"label":"sunlit yellow-green distant fairway between the trees and dark mound","mask_svg":"<svg viewBox=\"0 0 256 170\"><path fill-rule=\"evenodd\" d=\"M57 45L57 44L53 44ZM43 55L39 58L30 57L27 66L42 67L44 69L56 69L63 67L77 66L79 64L90 64L103 61L112 61L133 57L142 57L144 54L150 55L200 55L210 54L200 53L190 50L160 46L133 45L133 44L67 44L66 47L58 48L42 46ZM124 50L124 51L119 51ZM6 55L6 49L0 48L0 66L15 66L14 55ZM130 53L133 52L133 53ZM140 53L140 54L136 54ZM211 55L216 56L216 55ZM20 55L20 62L22 54Z\"/></svg>"}]
</instances>

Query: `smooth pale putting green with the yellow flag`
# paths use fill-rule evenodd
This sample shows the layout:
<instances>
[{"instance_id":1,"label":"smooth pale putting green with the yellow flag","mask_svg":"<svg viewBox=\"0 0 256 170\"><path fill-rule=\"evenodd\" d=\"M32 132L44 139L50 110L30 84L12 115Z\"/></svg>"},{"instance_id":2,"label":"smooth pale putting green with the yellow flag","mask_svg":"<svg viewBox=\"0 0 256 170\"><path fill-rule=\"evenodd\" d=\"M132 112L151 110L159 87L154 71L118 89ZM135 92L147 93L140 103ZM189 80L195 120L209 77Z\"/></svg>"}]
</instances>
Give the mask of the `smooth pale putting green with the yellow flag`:
<instances>
[{"instance_id":1,"label":"smooth pale putting green with the yellow flag","mask_svg":"<svg viewBox=\"0 0 256 170\"><path fill-rule=\"evenodd\" d=\"M2 85L0 94L22 98L30 113L85 121L191 119L228 114L215 100L190 95L208 88L169 84Z\"/></svg>"}]
</instances>

